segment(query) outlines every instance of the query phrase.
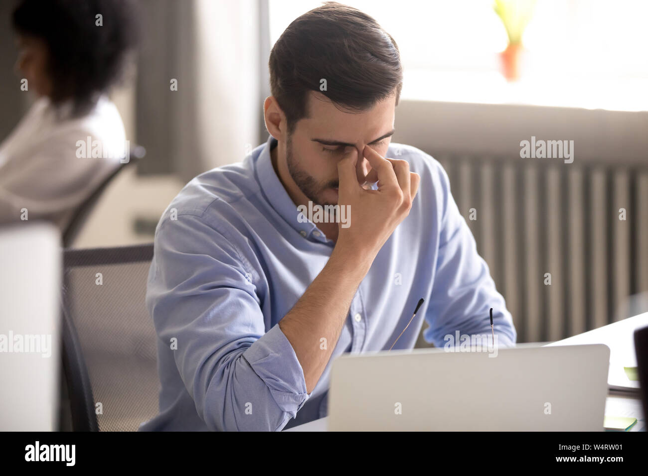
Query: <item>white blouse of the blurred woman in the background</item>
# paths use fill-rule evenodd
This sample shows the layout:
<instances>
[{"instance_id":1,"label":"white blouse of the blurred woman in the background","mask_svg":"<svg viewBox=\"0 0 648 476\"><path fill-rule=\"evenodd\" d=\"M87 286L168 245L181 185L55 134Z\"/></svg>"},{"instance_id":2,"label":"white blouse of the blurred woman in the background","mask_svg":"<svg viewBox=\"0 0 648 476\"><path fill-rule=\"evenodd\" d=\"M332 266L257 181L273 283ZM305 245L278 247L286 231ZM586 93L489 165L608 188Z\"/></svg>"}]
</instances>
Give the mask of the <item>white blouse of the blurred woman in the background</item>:
<instances>
[{"instance_id":1,"label":"white blouse of the blurred woman in the background","mask_svg":"<svg viewBox=\"0 0 648 476\"><path fill-rule=\"evenodd\" d=\"M0 144L0 223L49 220L64 231L75 210L121 165L115 151L128 144L115 104L101 96L76 118L71 106L36 100Z\"/></svg>"}]
</instances>

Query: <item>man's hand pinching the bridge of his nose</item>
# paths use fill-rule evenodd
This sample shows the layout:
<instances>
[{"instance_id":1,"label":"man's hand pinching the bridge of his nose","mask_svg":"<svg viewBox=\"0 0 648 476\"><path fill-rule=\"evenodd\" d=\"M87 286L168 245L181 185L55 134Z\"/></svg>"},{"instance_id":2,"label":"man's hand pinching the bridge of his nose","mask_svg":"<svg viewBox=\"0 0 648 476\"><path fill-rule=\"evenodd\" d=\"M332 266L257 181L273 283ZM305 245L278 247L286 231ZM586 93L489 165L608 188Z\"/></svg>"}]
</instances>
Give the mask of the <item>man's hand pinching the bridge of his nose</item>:
<instances>
[{"instance_id":1,"label":"man's hand pinching the bridge of his nose","mask_svg":"<svg viewBox=\"0 0 648 476\"><path fill-rule=\"evenodd\" d=\"M338 163L338 205L349 205L351 223L338 225L336 250L368 260L369 266L399 223L410 213L421 177L410 172L404 160L386 159L369 146L363 155L371 164L367 179L378 180L378 190L365 190L358 183L358 153L349 154Z\"/></svg>"}]
</instances>

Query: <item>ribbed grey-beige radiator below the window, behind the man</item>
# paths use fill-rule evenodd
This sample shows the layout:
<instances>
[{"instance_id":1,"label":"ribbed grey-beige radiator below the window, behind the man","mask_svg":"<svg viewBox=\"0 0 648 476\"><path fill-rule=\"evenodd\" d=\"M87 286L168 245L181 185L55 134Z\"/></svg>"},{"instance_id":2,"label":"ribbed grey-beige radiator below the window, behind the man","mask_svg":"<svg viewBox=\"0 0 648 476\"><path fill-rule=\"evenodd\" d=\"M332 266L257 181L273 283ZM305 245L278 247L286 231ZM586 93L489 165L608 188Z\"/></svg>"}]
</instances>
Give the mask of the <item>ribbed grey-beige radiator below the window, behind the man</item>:
<instances>
[{"instance_id":1,"label":"ribbed grey-beige radiator below the window, behind the man","mask_svg":"<svg viewBox=\"0 0 648 476\"><path fill-rule=\"evenodd\" d=\"M435 158L506 299L518 342L554 341L623 319L627 297L648 291L648 164Z\"/></svg>"}]
</instances>

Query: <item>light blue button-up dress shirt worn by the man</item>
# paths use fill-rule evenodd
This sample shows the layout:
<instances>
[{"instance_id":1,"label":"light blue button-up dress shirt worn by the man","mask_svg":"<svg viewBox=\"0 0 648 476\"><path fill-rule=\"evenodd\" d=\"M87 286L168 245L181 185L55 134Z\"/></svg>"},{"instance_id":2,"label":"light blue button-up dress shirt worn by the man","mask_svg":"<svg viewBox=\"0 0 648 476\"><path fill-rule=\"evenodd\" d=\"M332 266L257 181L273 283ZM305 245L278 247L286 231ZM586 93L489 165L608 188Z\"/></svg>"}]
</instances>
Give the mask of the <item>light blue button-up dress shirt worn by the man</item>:
<instances>
[{"instance_id":1,"label":"light blue button-up dress shirt worn by the man","mask_svg":"<svg viewBox=\"0 0 648 476\"><path fill-rule=\"evenodd\" d=\"M445 171L421 150L391 144L387 156L408 161L421 176L419 192L362 280L329 364L308 394L277 323L318 276L334 243L298 219L270 160L276 144L269 137L244 161L194 178L157 225L146 305L158 337L161 390L159 414L141 430L277 431L326 416L332 361L344 352L389 349L421 297L395 349L413 348L423 321L424 338L435 346L457 331L491 335L490 308L498 346L515 343L511 315Z\"/></svg>"}]
</instances>

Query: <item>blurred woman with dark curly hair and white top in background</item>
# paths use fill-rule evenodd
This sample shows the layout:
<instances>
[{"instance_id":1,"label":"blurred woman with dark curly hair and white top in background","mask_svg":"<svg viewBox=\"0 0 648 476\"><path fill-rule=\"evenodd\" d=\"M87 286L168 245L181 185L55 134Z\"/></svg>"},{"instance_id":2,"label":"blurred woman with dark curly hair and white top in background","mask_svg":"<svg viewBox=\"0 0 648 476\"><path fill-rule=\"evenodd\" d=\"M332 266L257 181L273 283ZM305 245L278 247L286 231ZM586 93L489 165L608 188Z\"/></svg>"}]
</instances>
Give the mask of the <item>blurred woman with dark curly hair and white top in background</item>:
<instances>
[{"instance_id":1,"label":"blurred woman with dark curly hair and white top in background","mask_svg":"<svg viewBox=\"0 0 648 476\"><path fill-rule=\"evenodd\" d=\"M36 101L0 144L0 223L49 220L64 231L126 162L107 94L135 47L135 13L125 0L19 1L16 70Z\"/></svg>"}]
</instances>

